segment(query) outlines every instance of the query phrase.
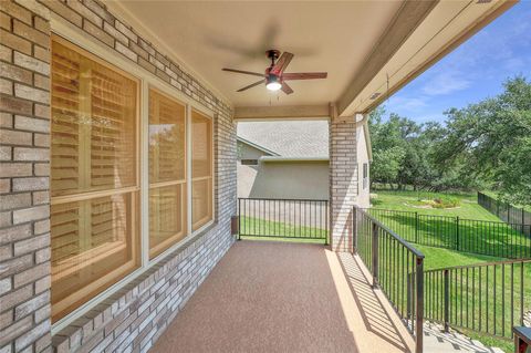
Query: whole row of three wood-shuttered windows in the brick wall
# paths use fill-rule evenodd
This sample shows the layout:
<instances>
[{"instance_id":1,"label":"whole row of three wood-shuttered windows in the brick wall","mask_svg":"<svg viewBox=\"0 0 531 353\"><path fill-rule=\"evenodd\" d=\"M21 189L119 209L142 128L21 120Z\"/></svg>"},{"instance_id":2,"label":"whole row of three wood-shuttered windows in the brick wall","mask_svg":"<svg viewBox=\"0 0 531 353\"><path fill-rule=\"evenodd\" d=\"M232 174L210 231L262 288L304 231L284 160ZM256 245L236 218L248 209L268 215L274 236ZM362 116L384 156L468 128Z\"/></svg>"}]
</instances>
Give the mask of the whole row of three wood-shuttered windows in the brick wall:
<instances>
[{"instance_id":1,"label":"whole row of three wood-shuttered windows in the brick wall","mask_svg":"<svg viewBox=\"0 0 531 353\"><path fill-rule=\"evenodd\" d=\"M211 117L133 64L113 63L52 37L53 323L214 217Z\"/></svg>"}]
</instances>

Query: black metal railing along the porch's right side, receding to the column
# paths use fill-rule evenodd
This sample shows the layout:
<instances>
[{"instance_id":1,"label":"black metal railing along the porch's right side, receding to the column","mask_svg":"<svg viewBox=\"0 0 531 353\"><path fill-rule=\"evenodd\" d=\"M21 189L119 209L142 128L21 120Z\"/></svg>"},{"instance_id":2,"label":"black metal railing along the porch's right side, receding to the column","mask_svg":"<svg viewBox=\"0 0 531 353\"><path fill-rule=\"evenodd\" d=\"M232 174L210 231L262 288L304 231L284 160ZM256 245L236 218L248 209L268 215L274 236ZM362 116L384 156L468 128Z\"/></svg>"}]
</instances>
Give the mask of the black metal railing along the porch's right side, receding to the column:
<instances>
[{"instance_id":1,"label":"black metal railing along the porch's right side, receding to the column","mask_svg":"<svg viewBox=\"0 0 531 353\"><path fill-rule=\"evenodd\" d=\"M354 207L353 246L423 352L424 255L365 210Z\"/></svg>"}]
</instances>

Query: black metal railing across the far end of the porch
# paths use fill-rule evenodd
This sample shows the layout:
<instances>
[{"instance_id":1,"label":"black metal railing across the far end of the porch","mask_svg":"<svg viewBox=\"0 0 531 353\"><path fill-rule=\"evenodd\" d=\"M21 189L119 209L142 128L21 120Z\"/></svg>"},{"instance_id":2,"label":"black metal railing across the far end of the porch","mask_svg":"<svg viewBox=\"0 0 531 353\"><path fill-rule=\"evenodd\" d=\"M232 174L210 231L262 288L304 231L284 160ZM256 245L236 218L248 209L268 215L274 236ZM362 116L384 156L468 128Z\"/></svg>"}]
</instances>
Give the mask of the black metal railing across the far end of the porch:
<instances>
[{"instance_id":1,"label":"black metal railing across the far end of the porch","mask_svg":"<svg viewBox=\"0 0 531 353\"><path fill-rule=\"evenodd\" d=\"M329 201L239 198L239 237L317 239L327 243Z\"/></svg>"}]
</instances>

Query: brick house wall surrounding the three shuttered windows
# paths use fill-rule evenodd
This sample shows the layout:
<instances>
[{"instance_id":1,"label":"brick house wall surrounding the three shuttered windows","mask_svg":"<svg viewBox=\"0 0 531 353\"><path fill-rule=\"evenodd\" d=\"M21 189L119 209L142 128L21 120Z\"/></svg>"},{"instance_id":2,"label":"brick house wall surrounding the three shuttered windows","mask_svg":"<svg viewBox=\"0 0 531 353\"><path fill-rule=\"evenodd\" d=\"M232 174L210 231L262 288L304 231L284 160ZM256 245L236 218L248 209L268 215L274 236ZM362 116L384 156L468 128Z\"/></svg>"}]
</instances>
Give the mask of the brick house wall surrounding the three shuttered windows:
<instances>
[{"instance_id":1,"label":"brick house wall surrounding the three shuttered windows","mask_svg":"<svg viewBox=\"0 0 531 353\"><path fill-rule=\"evenodd\" d=\"M60 18L215 112L215 224L52 336L50 35ZM95 0L0 2L0 352L147 351L233 242L228 104ZM58 33L61 34L61 33Z\"/></svg>"}]
</instances>

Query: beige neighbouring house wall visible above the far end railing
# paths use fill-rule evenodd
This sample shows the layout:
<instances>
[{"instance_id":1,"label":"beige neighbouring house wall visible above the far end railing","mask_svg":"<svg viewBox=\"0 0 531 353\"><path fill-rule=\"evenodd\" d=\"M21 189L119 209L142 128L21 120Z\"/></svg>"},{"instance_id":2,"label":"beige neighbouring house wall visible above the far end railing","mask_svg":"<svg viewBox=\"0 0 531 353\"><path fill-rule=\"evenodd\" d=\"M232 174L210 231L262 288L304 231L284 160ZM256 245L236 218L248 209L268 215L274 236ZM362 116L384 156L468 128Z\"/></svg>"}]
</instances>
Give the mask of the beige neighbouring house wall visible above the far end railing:
<instances>
[{"instance_id":1,"label":"beige neighbouring house wall visible above the far end railing","mask_svg":"<svg viewBox=\"0 0 531 353\"><path fill-rule=\"evenodd\" d=\"M261 160L258 166L239 165L238 178L238 197L329 199L327 160Z\"/></svg>"}]
</instances>

